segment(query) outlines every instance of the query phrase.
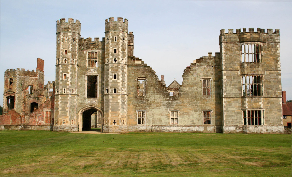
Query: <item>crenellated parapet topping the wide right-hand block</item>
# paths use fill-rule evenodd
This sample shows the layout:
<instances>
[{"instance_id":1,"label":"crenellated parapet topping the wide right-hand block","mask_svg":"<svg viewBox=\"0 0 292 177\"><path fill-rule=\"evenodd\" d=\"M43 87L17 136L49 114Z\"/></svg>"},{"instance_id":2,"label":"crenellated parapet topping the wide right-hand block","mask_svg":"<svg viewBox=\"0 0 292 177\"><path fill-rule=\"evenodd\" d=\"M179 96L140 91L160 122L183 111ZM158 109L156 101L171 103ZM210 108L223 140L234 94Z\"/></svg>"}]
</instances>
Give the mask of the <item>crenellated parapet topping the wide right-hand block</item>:
<instances>
[{"instance_id":1,"label":"crenellated parapet topping the wide right-hand block","mask_svg":"<svg viewBox=\"0 0 292 177\"><path fill-rule=\"evenodd\" d=\"M236 29L234 32L233 29L228 29L228 32L225 32L225 29L220 30L219 44L221 42L280 42L280 30L275 29L265 29L257 28L257 31L254 28Z\"/></svg>"}]
</instances>

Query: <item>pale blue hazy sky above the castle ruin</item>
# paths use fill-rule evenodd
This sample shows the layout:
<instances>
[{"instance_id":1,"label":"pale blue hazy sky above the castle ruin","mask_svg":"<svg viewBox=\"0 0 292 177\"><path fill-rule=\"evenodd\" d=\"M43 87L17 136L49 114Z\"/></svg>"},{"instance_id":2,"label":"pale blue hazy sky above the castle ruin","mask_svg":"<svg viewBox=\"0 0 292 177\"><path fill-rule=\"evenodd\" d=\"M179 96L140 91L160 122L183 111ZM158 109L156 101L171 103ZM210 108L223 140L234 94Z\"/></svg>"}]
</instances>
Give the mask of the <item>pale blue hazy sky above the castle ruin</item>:
<instances>
[{"instance_id":1,"label":"pale blue hazy sky above the castle ruin","mask_svg":"<svg viewBox=\"0 0 292 177\"><path fill-rule=\"evenodd\" d=\"M1 1L0 93L4 71L35 70L45 61L45 83L55 80L56 20L81 22L81 37L104 37L105 19L123 17L134 34L134 55L166 85L181 84L193 60L219 52L221 29L280 29L282 90L292 99L291 1ZM1 99L0 99L1 100ZM2 106L2 100L0 101Z\"/></svg>"}]
</instances>

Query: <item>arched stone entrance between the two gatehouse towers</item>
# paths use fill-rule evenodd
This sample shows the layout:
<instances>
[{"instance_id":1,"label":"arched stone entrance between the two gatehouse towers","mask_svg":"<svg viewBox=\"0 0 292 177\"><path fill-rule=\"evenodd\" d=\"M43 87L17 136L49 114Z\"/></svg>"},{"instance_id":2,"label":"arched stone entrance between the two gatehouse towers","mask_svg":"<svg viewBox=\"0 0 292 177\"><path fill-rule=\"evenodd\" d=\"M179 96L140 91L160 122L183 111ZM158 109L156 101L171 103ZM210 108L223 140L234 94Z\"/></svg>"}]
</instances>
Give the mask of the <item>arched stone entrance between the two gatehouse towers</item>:
<instances>
[{"instance_id":1,"label":"arched stone entrance between the two gatehouse towers","mask_svg":"<svg viewBox=\"0 0 292 177\"><path fill-rule=\"evenodd\" d=\"M100 109L95 106L86 106L79 111L79 131L89 131L100 125L102 132L103 114Z\"/></svg>"}]
</instances>

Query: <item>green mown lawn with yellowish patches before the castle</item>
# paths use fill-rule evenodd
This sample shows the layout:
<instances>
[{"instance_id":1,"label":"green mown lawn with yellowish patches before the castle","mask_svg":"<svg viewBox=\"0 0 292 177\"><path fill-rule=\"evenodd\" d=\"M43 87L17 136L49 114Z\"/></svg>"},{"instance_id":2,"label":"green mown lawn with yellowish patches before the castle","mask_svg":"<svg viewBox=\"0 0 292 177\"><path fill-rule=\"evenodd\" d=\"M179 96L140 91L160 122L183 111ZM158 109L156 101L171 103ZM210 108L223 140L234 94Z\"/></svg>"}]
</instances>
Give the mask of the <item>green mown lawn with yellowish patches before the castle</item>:
<instances>
[{"instance_id":1,"label":"green mown lawn with yellowish patches before the castle","mask_svg":"<svg viewBox=\"0 0 292 177\"><path fill-rule=\"evenodd\" d=\"M0 176L291 176L291 135L0 131Z\"/></svg>"}]
</instances>

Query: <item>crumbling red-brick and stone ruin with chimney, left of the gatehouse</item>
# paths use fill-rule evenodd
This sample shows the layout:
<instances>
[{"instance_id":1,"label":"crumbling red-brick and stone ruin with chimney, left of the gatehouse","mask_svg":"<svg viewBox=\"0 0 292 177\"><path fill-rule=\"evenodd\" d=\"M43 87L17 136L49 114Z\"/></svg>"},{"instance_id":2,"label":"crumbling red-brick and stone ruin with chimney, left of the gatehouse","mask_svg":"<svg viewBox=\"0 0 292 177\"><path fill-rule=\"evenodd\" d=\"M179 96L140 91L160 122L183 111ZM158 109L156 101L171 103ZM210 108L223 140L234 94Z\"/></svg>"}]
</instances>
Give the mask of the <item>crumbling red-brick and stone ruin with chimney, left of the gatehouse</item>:
<instances>
[{"instance_id":1,"label":"crumbling red-brick and stone ruin with chimney, left of the gatehouse","mask_svg":"<svg viewBox=\"0 0 292 177\"><path fill-rule=\"evenodd\" d=\"M51 126L53 116L54 84L44 85L44 60L37 58L36 71L10 69L5 72L4 115L1 125L19 129L18 125ZM15 97L14 108L9 107L7 97ZM13 125L9 127L9 125Z\"/></svg>"}]
</instances>

